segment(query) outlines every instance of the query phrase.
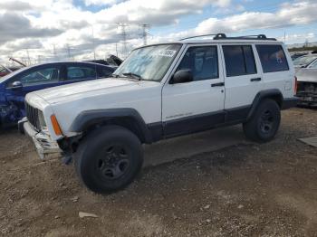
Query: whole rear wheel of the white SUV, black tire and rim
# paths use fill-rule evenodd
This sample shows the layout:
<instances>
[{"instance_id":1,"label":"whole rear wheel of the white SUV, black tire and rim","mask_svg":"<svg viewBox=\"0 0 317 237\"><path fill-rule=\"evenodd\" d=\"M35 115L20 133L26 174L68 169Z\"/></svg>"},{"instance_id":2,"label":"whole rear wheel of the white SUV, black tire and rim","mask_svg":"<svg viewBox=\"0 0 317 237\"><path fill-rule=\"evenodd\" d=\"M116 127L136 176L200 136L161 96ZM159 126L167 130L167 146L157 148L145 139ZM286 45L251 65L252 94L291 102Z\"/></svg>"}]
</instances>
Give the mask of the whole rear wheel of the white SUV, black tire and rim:
<instances>
[{"instance_id":1,"label":"whole rear wheel of the white SUV, black tire and rim","mask_svg":"<svg viewBox=\"0 0 317 237\"><path fill-rule=\"evenodd\" d=\"M281 110L274 100L263 100L255 113L243 124L245 137L257 141L267 142L272 140L281 122Z\"/></svg>"}]
</instances>

